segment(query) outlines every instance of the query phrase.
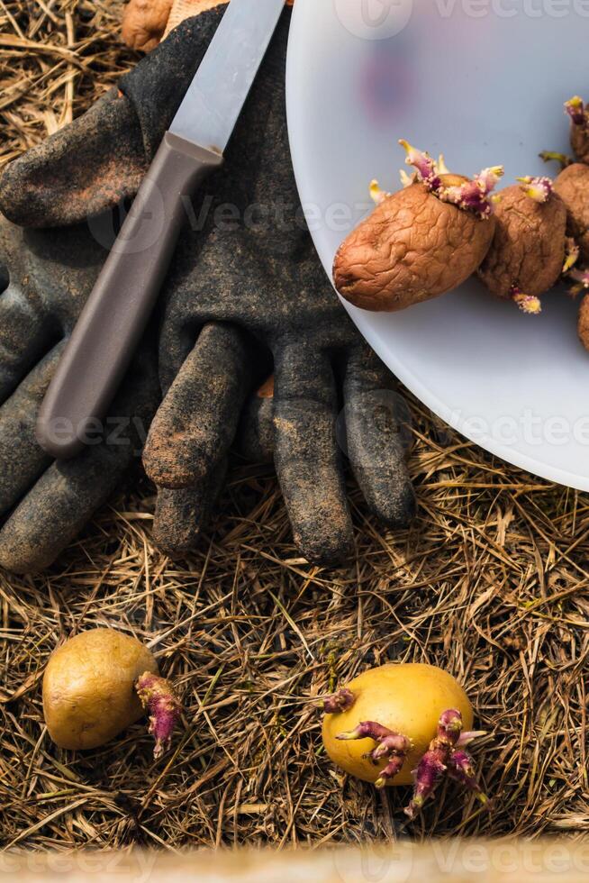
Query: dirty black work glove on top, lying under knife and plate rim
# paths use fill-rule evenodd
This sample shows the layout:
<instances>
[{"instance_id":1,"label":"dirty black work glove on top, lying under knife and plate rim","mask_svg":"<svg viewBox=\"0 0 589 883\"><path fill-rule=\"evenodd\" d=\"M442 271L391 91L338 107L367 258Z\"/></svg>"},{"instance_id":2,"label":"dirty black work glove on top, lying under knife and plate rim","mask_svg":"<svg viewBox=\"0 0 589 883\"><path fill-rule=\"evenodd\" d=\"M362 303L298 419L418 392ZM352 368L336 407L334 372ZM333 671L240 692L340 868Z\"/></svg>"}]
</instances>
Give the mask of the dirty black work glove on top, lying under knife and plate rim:
<instances>
[{"instance_id":1,"label":"dirty black work glove on top, lying under knife and plate rim","mask_svg":"<svg viewBox=\"0 0 589 883\"><path fill-rule=\"evenodd\" d=\"M215 8L181 23L122 78L120 93L16 160L0 188L4 208L13 197L14 219L75 221L129 196L221 14ZM302 220L285 120L288 24L285 12L225 165L192 206L162 292L165 401L144 462L162 490L156 539L168 551L185 549L222 482L226 451L269 354L276 471L295 541L307 559L331 563L352 545L335 435L341 405L350 464L371 509L404 526L414 497L394 395L382 413L394 378L340 305ZM72 180L81 166L85 177Z\"/></svg>"}]
</instances>

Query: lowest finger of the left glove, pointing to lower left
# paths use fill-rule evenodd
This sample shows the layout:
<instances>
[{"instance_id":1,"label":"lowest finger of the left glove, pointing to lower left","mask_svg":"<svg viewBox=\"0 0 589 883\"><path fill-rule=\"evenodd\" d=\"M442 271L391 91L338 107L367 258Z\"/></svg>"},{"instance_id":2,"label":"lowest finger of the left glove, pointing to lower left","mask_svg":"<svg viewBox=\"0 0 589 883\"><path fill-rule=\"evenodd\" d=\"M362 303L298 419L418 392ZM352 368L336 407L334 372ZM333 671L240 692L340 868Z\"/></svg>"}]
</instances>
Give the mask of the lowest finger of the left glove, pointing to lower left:
<instances>
[{"instance_id":1,"label":"lowest finger of the left glove, pointing to lower left","mask_svg":"<svg viewBox=\"0 0 589 883\"><path fill-rule=\"evenodd\" d=\"M154 361L142 355L135 360L99 443L73 460L53 463L23 497L0 531L0 567L14 573L49 567L120 487L157 406Z\"/></svg>"}]
</instances>

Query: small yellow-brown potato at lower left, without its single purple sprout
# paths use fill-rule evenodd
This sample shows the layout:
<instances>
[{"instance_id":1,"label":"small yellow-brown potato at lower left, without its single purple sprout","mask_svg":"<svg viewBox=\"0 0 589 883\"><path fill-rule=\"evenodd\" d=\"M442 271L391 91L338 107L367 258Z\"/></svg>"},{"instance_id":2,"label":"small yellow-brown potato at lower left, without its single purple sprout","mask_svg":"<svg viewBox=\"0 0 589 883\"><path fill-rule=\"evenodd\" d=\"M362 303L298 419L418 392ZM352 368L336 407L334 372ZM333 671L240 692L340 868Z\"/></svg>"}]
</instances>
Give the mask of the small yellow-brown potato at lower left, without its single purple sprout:
<instances>
[{"instance_id":1,"label":"small yellow-brown potato at lower left, without its single purple sprout","mask_svg":"<svg viewBox=\"0 0 589 883\"><path fill-rule=\"evenodd\" d=\"M43 677L43 714L59 748L85 750L110 742L143 716L134 682L158 674L151 652L113 629L70 638L50 658Z\"/></svg>"}]
</instances>

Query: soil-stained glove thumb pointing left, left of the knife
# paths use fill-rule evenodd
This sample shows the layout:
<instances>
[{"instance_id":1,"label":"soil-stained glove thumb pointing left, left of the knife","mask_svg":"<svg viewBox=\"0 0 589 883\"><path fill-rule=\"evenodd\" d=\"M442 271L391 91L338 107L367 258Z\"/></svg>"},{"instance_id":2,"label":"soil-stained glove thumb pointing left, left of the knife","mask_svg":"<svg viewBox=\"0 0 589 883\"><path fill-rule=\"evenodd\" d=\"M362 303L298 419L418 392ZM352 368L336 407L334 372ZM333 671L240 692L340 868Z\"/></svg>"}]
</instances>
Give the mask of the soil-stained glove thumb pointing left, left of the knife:
<instances>
[{"instance_id":1,"label":"soil-stained glove thumb pointing left, left of the knife","mask_svg":"<svg viewBox=\"0 0 589 883\"><path fill-rule=\"evenodd\" d=\"M0 210L23 227L85 221L133 196L147 161L131 101L112 89L83 116L14 159Z\"/></svg>"}]
</instances>

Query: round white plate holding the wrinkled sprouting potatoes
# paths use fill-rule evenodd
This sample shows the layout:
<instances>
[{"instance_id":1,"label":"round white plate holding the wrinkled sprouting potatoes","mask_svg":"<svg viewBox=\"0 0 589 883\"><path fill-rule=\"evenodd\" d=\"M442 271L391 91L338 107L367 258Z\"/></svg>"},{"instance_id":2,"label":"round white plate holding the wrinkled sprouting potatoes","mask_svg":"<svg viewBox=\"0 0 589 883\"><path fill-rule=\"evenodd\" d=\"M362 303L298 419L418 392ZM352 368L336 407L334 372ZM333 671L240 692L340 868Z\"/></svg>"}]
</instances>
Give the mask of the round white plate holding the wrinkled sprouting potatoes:
<instances>
[{"instance_id":1,"label":"round white plate holding the wrinkled sprouting potatoes","mask_svg":"<svg viewBox=\"0 0 589 883\"><path fill-rule=\"evenodd\" d=\"M289 132L330 276L340 241L369 208L370 179L400 186L400 137L443 151L464 174L503 163L505 183L546 174L539 150L570 152L563 103L584 89L589 97L588 35L587 0L296 0ZM543 303L540 316L526 316L471 281L403 313L348 308L445 421L504 460L589 490L578 304L562 287Z\"/></svg>"}]
</instances>

